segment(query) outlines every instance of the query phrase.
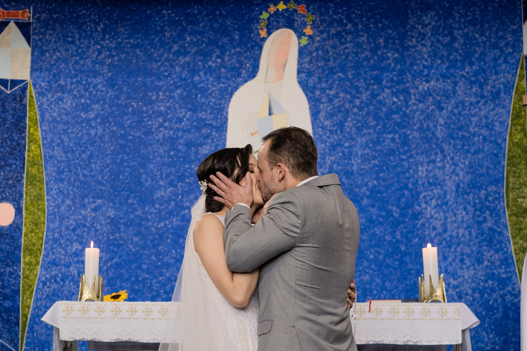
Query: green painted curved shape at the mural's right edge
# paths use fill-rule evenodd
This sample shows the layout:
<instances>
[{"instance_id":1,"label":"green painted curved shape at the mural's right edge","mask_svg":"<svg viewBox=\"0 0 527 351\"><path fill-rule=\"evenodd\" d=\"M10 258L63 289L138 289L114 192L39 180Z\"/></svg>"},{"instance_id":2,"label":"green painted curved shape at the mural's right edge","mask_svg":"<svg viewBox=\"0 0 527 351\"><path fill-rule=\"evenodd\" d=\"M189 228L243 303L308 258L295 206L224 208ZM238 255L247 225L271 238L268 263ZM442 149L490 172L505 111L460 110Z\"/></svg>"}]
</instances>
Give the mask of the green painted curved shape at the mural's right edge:
<instances>
[{"instance_id":1,"label":"green painted curved shape at the mural's right edge","mask_svg":"<svg viewBox=\"0 0 527 351\"><path fill-rule=\"evenodd\" d=\"M527 252L527 113L523 106L523 94L525 64L522 54L512 98L505 161L505 208L520 282Z\"/></svg>"}]
</instances>

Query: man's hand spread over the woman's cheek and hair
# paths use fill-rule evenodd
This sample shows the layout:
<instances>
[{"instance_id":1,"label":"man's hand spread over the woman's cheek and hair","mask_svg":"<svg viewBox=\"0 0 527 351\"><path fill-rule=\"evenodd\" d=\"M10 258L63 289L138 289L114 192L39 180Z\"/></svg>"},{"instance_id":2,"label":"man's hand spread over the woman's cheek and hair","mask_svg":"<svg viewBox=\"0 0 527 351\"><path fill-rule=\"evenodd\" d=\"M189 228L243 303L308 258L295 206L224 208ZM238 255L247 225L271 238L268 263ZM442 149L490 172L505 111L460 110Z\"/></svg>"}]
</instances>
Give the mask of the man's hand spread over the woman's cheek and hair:
<instances>
[{"instance_id":1,"label":"man's hand spread over the woman's cheek and hair","mask_svg":"<svg viewBox=\"0 0 527 351\"><path fill-rule=\"evenodd\" d=\"M232 209L232 206L240 203L251 207L252 178L249 172L245 175L245 185L243 186L236 184L221 172L216 172L216 176L211 175L210 180L213 183L209 183L209 186L219 195L214 196L214 200L227 206L228 209Z\"/></svg>"}]
</instances>

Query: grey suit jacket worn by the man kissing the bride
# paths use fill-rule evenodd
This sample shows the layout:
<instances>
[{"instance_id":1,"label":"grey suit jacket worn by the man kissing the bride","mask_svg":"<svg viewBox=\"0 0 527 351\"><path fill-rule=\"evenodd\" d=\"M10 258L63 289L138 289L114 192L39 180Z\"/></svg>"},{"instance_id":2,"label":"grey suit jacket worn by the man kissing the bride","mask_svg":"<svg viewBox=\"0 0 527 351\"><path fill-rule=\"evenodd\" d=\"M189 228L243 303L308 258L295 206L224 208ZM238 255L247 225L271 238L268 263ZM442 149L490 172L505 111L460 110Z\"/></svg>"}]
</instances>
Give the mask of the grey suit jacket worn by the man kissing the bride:
<instances>
[{"instance_id":1,"label":"grey suit jacket worn by the man kissing the bride","mask_svg":"<svg viewBox=\"0 0 527 351\"><path fill-rule=\"evenodd\" d=\"M357 349L346 297L359 221L336 174L277 194L252 228L246 206L225 219L227 267L260 267L259 351Z\"/></svg>"}]
</instances>

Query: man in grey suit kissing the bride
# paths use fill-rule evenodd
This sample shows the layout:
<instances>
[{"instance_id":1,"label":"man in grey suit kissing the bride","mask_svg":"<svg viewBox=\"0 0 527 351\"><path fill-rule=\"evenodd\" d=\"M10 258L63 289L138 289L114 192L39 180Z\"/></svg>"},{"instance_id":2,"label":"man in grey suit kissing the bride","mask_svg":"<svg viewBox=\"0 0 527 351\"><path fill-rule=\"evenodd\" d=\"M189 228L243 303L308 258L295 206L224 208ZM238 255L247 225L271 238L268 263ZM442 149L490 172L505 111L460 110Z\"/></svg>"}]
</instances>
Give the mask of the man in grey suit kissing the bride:
<instances>
[{"instance_id":1,"label":"man in grey suit kissing the bride","mask_svg":"<svg viewBox=\"0 0 527 351\"><path fill-rule=\"evenodd\" d=\"M223 233L227 267L260 267L258 350L356 350L343 298L359 244L355 206L336 174L317 176L317 148L304 129L266 135L258 168L269 202L253 227L251 177L240 186L218 173L217 187L210 184L232 208Z\"/></svg>"}]
</instances>

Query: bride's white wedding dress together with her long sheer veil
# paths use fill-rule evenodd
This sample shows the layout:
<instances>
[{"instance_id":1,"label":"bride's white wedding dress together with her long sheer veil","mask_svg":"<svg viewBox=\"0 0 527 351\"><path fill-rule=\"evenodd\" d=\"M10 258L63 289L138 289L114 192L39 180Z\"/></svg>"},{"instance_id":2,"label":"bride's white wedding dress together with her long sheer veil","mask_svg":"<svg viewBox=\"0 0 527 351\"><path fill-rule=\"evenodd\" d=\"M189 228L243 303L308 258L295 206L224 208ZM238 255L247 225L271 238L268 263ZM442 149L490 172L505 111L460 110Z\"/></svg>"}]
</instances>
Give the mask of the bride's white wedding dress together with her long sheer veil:
<instances>
[{"instance_id":1,"label":"bride's white wedding dress together with her long sheer veil","mask_svg":"<svg viewBox=\"0 0 527 351\"><path fill-rule=\"evenodd\" d=\"M192 207L181 270L172 298L173 316L165 325L160 350L257 351L258 290L245 308L234 307L221 295L194 248L193 230L204 215L204 195ZM216 215L214 215L216 216ZM225 219L216 216L225 225Z\"/></svg>"}]
</instances>

